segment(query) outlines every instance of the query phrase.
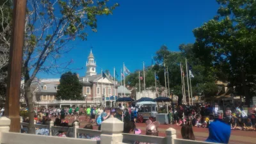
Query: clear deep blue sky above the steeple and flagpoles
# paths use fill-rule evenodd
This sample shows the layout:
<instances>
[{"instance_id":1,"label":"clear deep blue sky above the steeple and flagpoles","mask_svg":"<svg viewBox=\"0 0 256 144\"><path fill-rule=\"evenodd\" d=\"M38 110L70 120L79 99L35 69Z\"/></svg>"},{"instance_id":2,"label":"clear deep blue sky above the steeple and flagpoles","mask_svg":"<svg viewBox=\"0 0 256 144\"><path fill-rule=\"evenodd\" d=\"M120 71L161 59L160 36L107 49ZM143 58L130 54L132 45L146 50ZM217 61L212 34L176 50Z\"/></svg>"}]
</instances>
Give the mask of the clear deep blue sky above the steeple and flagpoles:
<instances>
[{"instance_id":1,"label":"clear deep blue sky above the steeple and flagpoles","mask_svg":"<svg viewBox=\"0 0 256 144\"><path fill-rule=\"evenodd\" d=\"M86 61L92 52L100 69L116 67L120 78L122 63L131 72L151 64L151 56L167 45L179 51L180 44L195 41L192 30L212 19L218 10L215 0L110 0L119 3L113 15L98 17L97 33L88 32L88 40L70 43L75 47L60 61L74 60L70 68L84 76ZM83 67L83 68L82 68ZM82 68L78 69L77 68ZM59 78L59 75L38 73L39 78Z\"/></svg>"}]
</instances>

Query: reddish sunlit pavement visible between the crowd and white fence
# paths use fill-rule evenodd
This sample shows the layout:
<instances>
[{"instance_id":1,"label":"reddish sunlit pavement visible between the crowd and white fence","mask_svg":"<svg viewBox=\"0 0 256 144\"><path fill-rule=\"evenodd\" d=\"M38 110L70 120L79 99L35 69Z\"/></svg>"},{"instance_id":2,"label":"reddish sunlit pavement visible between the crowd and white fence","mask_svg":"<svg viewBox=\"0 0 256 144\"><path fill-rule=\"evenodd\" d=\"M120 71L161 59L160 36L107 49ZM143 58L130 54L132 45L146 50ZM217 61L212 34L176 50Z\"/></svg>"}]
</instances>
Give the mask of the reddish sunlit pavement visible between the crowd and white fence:
<instances>
[{"instance_id":1,"label":"reddish sunlit pavement visible between the crowd and white fence","mask_svg":"<svg viewBox=\"0 0 256 144\"><path fill-rule=\"evenodd\" d=\"M51 118L52 120L55 120L55 118ZM66 118L69 121L69 124L72 124L74 121L74 118ZM84 125L88 124L87 120L85 120L85 116L80 116L77 118L80 122L80 127L83 128ZM145 134L145 123L136 123L136 128L141 129L141 134ZM173 129L176 129L177 132L177 138L181 138L180 135L180 126L177 125L164 125L161 124L159 125L159 136L166 136L165 130L168 129L169 127L172 127ZM93 124L93 129L97 130L98 126L94 123ZM201 127L193 127L193 131L196 137L196 140L198 141L205 141L208 137L209 131L206 128L201 128ZM230 144L252 144L256 143L256 131L231 131L231 136L230 136Z\"/></svg>"}]
</instances>

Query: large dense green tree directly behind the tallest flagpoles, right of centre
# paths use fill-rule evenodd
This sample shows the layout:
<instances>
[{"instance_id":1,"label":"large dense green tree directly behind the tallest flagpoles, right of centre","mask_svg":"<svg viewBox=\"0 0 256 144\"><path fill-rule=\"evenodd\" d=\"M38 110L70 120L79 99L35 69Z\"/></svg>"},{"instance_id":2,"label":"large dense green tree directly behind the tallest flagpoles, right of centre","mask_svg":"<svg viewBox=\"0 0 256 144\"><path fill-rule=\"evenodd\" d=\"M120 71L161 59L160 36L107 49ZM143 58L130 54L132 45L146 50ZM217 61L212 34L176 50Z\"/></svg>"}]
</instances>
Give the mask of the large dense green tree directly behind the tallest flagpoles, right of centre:
<instances>
[{"instance_id":1,"label":"large dense green tree directly behind the tallest flagpoles, right of centre","mask_svg":"<svg viewBox=\"0 0 256 144\"><path fill-rule=\"evenodd\" d=\"M166 87L173 89L173 93L179 96L179 103L182 98L182 86L181 86L181 74L180 63L182 68L186 72L186 58L189 65L192 66L192 72L195 77L191 78L192 94L198 95L198 93L204 92L205 97L211 97L218 92L218 86L215 84L216 77L211 67L205 66L199 58L196 57L193 51L193 44L181 44L179 45L180 52L169 51L166 45L163 45L159 51L156 52L155 60L157 65L154 66L154 70L159 76L159 83L161 86L165 86L164 79L164 65L169 73L169 83L166 75ZM187 77L184 77L186 86L186 95L188 95ZM190 95L190 93L189 93Z\"/></svg>"}]
</instances>

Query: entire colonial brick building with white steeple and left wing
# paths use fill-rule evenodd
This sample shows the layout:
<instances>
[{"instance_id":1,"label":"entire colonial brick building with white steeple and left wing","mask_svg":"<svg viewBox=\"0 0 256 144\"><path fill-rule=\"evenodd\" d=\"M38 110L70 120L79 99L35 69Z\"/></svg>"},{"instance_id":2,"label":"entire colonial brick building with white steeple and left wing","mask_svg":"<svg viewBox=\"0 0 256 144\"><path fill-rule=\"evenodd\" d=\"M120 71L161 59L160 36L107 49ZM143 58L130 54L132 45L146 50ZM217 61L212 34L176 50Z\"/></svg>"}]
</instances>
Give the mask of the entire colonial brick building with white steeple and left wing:
<instances>
[{"instance_id":1,"label":"entire colonial brick building with white steeple and left wing","mask_svg":"<svg viewBox=\"0 0 256 144\"><path fill-rule=\"evenodd\" d=\"M36 106L73 106L73 105L90 105L90 106L113 106L118 95L121 96L121 89L118 88L117 81L102 74L97 74L97 65L92 51L86 61L85 76L77 77L83 86L82 95L84 100L56 100L58 84L60 79L35 79L31 88L33 88L34 102ZM101 73L101 72L100 72ZM120 92L120 93L119 93ZM124 96L129 96L131 92L125 88ZM22 103L24 102L23 100Z\"/></svg>"}]
</instances>

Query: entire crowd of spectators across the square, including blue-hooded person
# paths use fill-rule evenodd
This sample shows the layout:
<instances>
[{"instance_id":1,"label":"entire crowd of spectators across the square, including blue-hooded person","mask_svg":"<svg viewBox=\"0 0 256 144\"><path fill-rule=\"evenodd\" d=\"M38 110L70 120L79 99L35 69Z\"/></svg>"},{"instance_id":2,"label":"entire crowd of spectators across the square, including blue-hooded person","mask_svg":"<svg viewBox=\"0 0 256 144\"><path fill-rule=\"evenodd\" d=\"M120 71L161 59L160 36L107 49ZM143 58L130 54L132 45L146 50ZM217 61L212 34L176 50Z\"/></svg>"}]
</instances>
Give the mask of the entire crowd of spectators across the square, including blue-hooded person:
<instances>
[{"instance_id":1,"label":"entire crowd of spectators across the square, including blue-hooded person","mask_svg":"<svg viewBox=\"0 0 256 144\"><path fill-rule=\"evenodd\" d=\"M193 127L209 128L210 135L207 139L209 142L227 143L231 130L253 131L256 126L256 105L249 113L244 113L240 106L236 106L235 109L225 109L225 113L223 113L216 111L216 108L212 108L210 104L180 105L173 108L171 106L168 109L169 125L180 125L182 138L186 140L195 140ZM22 110L28 109L23 108ZM35 108L36 115L34 120L36 120L37 124L49 125L51 118L54 117L55 126L72 127L74 122L79 123L79 116L84 115L85 120L88 122L84 129L93 129L93 124L95 123L99 126L98 130L100 131L104 120L115 117L124 122L124 133L141 134L141 130L136 128L136 123L141 122L141 116L138 115L138 111L140 111L140 108L135 103L127 103L125 106L118 104L116 108L103 108L102 106L99 108L90 106L86 108ZM69 118L74 118L74 122L71 125L68 125ZM24 118L24 122L29 122L29 119ZM145 124L147 135L158 136L159 122L155 121L154 118L150 118ZM220 127L225 127L225 129L220 129ZM22 132L28 132L28 128L23 127ZM49 131L47 129L36 129L36 134L48 135ZM214 135L212 136L212 134ZM74 137L71 131L55 131L52 135ZM79 138L100 139L99 136L92 136L91 134L80 134ZM144 144L138 141L124 142Z\"/></svg>"}]
</instances>

